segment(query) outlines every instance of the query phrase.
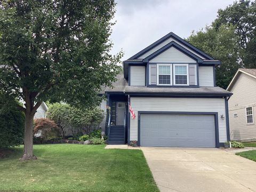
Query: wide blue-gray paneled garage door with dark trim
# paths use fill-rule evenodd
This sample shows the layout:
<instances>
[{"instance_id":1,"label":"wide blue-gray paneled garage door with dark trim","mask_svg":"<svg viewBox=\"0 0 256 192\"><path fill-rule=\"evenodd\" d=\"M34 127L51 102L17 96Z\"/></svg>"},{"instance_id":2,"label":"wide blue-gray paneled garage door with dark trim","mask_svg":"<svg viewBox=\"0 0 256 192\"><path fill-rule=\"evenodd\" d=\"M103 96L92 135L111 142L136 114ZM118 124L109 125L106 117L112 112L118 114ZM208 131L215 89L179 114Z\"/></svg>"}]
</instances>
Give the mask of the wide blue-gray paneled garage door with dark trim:
<instances>
[{"instance_id":1,"label":"wide blue-gray paneled garage door with dark trim","mask_svg":"<svg viewBox=\"0 0 256 192\"><path fill-rule=\"evenodd\" d=\"M140 145L215 147L214 115L141 114Z\"/></svg>"}]
</instances>

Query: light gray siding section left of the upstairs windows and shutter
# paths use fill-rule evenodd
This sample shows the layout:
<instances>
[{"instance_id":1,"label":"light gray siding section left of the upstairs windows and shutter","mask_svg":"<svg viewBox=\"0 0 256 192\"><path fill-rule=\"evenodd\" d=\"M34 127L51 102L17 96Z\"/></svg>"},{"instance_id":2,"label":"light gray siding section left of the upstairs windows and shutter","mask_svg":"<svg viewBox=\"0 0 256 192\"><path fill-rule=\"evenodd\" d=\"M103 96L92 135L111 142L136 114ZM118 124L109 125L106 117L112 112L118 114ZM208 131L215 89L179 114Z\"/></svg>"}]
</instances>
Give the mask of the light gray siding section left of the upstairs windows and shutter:
<instances>
[{"instance_id":1,"label":"light gray siding section left of the upstairs windows and shutter","mask_svg":"<svg viewBox=\"0 0 256 192\"><path fill-rule=\"evenodd\" d=\"M131 79L130 85L145 86L145 67L144 66L131 66Z\"/></svg>"}]
</instances>

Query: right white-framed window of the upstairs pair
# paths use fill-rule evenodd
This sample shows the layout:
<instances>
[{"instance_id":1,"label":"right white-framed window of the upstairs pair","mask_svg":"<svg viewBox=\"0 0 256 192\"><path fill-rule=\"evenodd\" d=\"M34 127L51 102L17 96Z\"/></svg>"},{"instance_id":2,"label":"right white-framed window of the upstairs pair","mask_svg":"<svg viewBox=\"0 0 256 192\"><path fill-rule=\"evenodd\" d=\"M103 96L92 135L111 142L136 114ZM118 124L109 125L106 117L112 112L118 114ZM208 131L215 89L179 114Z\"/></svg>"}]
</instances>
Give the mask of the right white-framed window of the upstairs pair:
<instances>
[{"instance_id":1,"label":"right white-framed window of the upstairs pair","mask_svg":"<svg viewBox=\"0 0 256 192\"><path fill-rule=\"evenodd\" d=\"M174 64L174 85L188 84L188 64Z\"/></svg>"}]
</instances>

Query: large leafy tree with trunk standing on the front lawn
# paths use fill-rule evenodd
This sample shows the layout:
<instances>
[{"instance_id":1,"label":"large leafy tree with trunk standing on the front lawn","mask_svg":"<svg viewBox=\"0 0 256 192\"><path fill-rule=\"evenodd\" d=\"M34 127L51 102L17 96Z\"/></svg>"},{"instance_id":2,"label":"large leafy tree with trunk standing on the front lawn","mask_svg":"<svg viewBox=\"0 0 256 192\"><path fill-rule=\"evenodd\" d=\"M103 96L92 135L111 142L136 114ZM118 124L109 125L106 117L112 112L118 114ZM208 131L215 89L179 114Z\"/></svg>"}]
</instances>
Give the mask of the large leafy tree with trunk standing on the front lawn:
<instances>
[{"instance_id":1,"label":"large leafy tree with trunk standing on the front lawn","mask_svg":"<svg viewBox=\"0 0 256 192\"><path fill-rule=\"evenodd\" d=\"M33 155L33 118L43 100L76 106L100 102L122 52L109 54L114 0L0 1L0 93L22 99L22 159Z\"/></svg>"}]
</instances>

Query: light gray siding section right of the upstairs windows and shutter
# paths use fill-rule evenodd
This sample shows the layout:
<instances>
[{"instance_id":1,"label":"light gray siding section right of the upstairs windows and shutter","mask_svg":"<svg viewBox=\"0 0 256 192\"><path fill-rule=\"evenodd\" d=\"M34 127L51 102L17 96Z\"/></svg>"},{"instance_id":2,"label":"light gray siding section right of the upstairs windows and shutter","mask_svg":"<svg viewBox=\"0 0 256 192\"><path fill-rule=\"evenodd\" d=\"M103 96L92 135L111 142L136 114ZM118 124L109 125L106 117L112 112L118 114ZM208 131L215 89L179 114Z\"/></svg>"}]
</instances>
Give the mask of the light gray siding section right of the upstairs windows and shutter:
<instances>
[{"instance_id":1,"label":"light gray siding section right of the upstairs windows and shutter","mask_svg":"<svg viewBox=\"0 0 256 192\"><path fill-rule=\"evenodd\" d=\"M214 86L212 66L199 66L199 86Z\"/></svg>"}]
</instances>

